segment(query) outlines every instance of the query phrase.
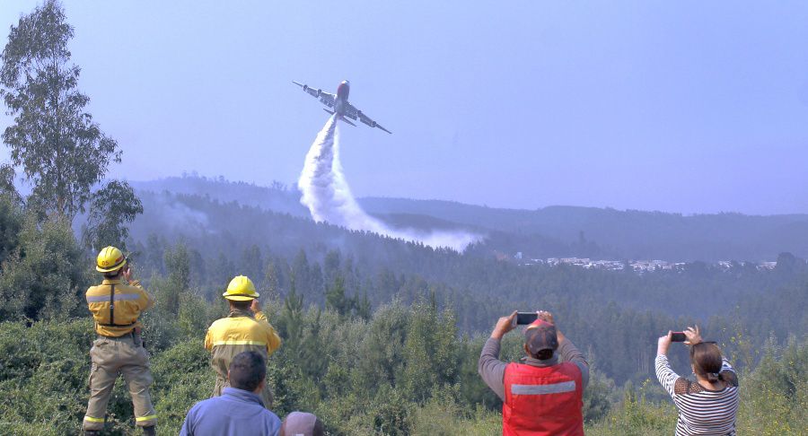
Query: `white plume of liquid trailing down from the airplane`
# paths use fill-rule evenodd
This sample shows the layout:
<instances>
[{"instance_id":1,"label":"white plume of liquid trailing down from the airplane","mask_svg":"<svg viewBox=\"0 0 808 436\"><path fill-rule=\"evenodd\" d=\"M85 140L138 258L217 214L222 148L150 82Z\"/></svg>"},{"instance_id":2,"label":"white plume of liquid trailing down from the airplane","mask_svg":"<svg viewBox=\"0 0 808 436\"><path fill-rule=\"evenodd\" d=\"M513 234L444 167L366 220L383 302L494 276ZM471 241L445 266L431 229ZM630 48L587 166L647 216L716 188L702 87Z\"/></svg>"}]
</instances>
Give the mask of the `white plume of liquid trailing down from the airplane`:
<instances>
[{"instance_id":1,"label":"white plume of liquid trailing down from the airplane","mask_svg":"<svg viewBox=\"0 0 808 436\"><path fill-rule=\"evenodd\" d=\"M306 153L303 172L297 180L303 193L300 202L309 208L315 222L329 222L355 231L373 231L402 240L420 241L434 247L462 251L479 235L466 231L420 231L391 229L364 213L347 186L339 163L337 117L331 116Z\"/></svg>"}]
</instances>

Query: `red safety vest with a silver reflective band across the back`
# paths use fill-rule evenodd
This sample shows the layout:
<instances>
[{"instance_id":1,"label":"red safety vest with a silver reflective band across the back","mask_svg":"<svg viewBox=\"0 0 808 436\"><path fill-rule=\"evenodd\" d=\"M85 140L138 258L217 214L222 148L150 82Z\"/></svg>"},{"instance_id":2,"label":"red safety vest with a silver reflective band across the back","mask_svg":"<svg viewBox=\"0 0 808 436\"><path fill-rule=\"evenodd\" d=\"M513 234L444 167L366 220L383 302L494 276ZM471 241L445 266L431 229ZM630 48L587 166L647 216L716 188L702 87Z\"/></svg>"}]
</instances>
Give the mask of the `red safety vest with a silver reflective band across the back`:
<instances>
[{"instance_id":1,"label":"red safety vest with a silver reflective band across the back","mask_svg":"<svg viewBox=\"0 0 808 436\"><path fill-rule=\"evenodd\" d=\"M575 363L505 367L504 436L584 436L584 387Z\"/></svg>"}]
</instances>

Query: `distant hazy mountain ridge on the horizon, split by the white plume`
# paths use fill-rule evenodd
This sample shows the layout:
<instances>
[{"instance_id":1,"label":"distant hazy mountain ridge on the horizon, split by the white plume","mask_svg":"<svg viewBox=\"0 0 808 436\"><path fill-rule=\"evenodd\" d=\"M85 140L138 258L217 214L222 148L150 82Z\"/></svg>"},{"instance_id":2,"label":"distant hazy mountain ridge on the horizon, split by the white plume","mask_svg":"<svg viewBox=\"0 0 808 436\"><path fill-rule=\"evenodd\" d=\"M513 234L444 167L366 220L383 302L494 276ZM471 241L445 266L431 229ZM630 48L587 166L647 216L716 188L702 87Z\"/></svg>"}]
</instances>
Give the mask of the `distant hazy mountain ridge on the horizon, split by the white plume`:
<instances>
[{"instance_id":1,"label":"distant hazy mountain ridge on the horizon, split by the white plume","mask_svg":"<svg viewBox=\"0 0 808 436\"><path fill-rule=\"evenodd\" d=\"M138 190L206 196L309 217L300 193L195 176L132 182ZM487 234L487 249L525 257L585 256L674 261L774 260L808 257L808 214L670 214L581 206L502 209L443 200L367 197L369 214L396 227L463 228Z\"/></svg>"}]
</instances>

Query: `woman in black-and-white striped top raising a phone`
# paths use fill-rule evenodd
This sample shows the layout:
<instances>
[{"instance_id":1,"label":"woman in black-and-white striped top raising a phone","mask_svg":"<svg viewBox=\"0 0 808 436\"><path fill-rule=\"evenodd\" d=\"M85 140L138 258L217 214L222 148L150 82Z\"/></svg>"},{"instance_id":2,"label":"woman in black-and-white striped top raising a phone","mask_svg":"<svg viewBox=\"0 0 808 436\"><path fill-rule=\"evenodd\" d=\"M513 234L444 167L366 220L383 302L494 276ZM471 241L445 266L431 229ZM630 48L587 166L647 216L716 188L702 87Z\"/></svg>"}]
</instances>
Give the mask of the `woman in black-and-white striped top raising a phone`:
<instances>
[{"instance_id":1,"label":"woman in black-and-white striped top raising a phone","mask_svg":"<svg viewBox=\"0 0 808 436\"><path fill-rule=\"evenodd\" d=\"M685 344L690 346L690 366L696 381L680 377L668 363L672 332L659 338L656 377L679 409L676 435L735 434L738 412L738 378L715 343L702 342L698 326L688 327Z\"/></svg>"}]
</instances>

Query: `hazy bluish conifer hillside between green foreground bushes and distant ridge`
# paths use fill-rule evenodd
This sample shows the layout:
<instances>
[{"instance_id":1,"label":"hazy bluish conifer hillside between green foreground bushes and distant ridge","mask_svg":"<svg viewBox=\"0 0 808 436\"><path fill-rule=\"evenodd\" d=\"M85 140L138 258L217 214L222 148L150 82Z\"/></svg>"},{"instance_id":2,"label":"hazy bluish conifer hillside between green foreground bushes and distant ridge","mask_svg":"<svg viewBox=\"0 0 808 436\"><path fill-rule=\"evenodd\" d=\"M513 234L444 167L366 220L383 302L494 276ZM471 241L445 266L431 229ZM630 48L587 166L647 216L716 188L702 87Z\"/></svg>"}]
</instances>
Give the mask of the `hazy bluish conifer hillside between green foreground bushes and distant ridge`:
<instances>
[{"instance_id":1,"label":"hazy bluish conifer hillside between green foreground bushes and distant ridge","mask_svg":"<svg viewBox=\"0 0 808 436\"><path fill-rule=\"evenodd\" d=\"M650 374L654 356L645 344L669 326L698 322L725 341L743 332L755 346L808 331L802 316L808 266L789 254L772 271L693 263L638 275L521 266L490 256L485 244L459 254L202 196L144 193L142 199L146 212L133 223L129 244L137 265L148 275L166 275L165 253L188 249L189 281L208 300L215 301L230 277L245 274L273 295L284 298L294 287L321 307L329 292L344 295L346 301L332 301L339 307L430 299L453 310L469 334L512 310L553 308L619 383ZM165 210L174 212L148 212Z\"/></svg>"}]
</instances>

